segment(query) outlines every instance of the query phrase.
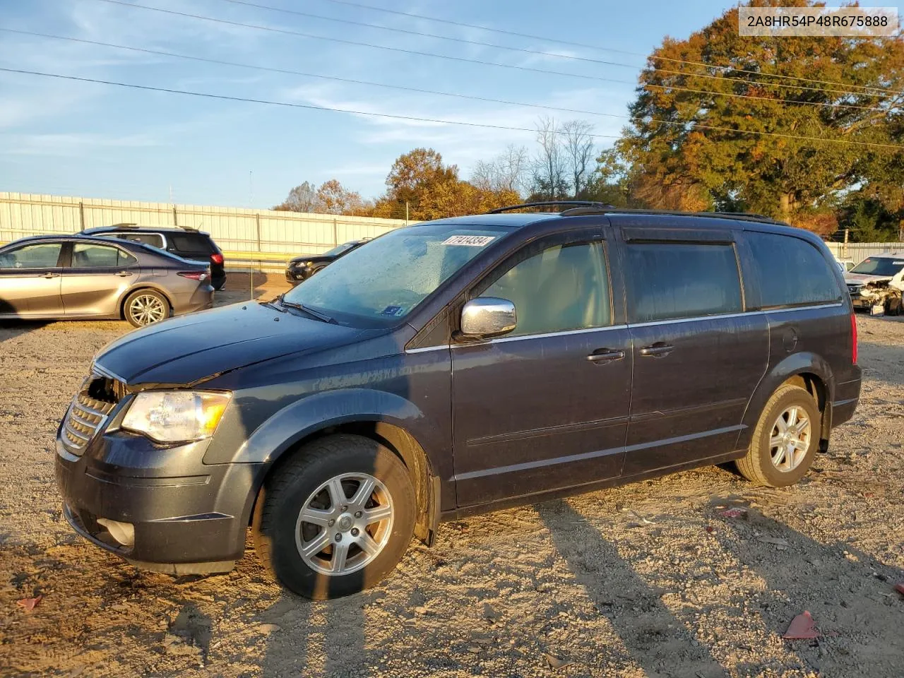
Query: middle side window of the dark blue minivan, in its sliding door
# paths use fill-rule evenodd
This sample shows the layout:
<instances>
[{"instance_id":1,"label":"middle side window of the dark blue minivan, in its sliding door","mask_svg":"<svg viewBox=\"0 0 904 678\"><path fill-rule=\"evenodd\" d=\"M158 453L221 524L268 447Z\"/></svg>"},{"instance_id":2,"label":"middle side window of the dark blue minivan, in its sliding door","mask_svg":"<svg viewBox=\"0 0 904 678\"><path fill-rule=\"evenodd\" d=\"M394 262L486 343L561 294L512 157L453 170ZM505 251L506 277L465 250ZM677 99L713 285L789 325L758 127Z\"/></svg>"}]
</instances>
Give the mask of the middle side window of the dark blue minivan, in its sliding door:
<instances>
[{"instance_id":1,"label":"middle side window of the dark blue minivan, in its sliding door","mask_svg":"<svg viewBox=\"0 0 904 678\"><path fill-rule=\"evenodd\" d=\"M628 242L625 251L629 322L741 311L734 246Z\"/></svg>"}]
</instances>

